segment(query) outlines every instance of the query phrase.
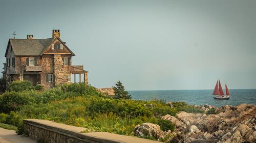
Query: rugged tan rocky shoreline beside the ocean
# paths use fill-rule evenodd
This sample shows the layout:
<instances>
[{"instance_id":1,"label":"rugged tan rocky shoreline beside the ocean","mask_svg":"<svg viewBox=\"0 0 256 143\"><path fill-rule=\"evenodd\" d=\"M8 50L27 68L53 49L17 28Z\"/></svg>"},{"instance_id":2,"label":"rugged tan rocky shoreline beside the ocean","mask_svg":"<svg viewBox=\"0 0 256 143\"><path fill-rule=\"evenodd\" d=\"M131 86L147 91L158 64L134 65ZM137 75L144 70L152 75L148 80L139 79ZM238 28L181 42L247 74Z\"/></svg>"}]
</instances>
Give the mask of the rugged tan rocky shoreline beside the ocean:
<instances>
[{"instance_id":1,"label":"rugged tan rocky shoreline beside the ocean","mask_svg":"<svg viewBox=\"0 0 256 143\"><path fill-rule=\"evenodd\" d=\"M172 122L174 131L162 131L160 126L143 123L134 128L136 136L150 136L164 142L256 142L256 106L215 107L200 106L204 113L179 112L175 117L164 115L161 119ZM209 113L212 114L206 115Z\"/></svg>"}]
</instances>

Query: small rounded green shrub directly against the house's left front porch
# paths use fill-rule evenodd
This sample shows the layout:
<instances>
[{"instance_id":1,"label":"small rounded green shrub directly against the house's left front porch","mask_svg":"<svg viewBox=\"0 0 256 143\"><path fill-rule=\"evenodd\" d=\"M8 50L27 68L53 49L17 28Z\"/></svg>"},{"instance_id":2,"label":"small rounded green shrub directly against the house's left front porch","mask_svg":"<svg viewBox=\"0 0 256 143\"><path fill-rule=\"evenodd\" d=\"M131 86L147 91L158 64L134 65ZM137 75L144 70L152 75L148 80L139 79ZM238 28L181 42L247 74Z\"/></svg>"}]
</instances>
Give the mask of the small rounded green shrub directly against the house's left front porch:
<instances>
[{"instance_id":1,"label":"small rounded green shrub directly against the house's left front porch","mask_svg":"<svg viewBox=\"0 0 256 143\"><path fill-rule=\"evenodd\" d=\"M28 91L32 89L32 83L30 81L13 81L9 85L10 91L21 92L21 91Z\"/></svg>"}]
</instances>

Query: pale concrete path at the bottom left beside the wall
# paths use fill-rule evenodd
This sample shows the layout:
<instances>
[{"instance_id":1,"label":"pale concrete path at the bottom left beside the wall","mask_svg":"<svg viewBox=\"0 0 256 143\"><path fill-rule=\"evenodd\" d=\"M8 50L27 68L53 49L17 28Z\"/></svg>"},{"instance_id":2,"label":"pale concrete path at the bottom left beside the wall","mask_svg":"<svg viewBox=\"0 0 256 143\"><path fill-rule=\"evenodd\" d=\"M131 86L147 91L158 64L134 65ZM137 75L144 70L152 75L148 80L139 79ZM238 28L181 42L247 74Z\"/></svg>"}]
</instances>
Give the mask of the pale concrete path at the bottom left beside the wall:
<instances>
[{"instance_id":1,"label":"pale concrete path at the bottom left beside the wall","mask_svg":"<svg viewBox=\"0 0 256 143\"><path fill-rule=\"evenodd\" d=\"M21 137L14 130L0 128L0 143L36 143L36 141L29 137Z\"/></svg>"}]
</instances>

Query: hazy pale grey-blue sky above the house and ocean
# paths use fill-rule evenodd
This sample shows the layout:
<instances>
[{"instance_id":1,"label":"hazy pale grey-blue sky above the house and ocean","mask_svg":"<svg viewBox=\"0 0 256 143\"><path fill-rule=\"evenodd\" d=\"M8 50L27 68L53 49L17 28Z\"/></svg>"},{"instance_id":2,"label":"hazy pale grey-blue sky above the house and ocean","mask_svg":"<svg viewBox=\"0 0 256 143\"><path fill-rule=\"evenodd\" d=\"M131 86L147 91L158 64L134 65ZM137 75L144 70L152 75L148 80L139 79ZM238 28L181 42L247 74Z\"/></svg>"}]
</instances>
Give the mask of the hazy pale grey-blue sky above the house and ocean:
<instances>
[{"instance_id":1,"label":"hazy pale grey-blue sky above the house and ocean","mask_svg":"<svg viewBox=\"0 0 256 143\"><path fill-rule=\"evenodd\" d=\"M230 89L256 88L253 0L0 0L0 63L13 31L42 39L53 29L95 87L214 89L219 78Z\"/></svg>"}]
</instances>

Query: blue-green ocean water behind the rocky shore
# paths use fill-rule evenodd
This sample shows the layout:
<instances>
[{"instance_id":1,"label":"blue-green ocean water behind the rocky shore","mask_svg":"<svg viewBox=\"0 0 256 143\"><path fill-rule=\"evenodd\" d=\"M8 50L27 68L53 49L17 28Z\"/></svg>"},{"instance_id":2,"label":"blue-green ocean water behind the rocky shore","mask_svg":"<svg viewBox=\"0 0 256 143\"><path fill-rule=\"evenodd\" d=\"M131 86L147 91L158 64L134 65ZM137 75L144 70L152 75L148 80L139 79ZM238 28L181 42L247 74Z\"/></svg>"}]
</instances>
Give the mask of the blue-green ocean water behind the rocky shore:
<instances>
[{"instance_id":1,"label":"blue-green ocean water behind the rocky shore","mask_svg":"<svg viewBox=\"0 0 256 143\"><path fill-rule=\"evenodd\" d=\"M193 105L209 104L213 106L233 105L242 103L256 105L256 89L229 90L229 100L217 100L212 97L213 90L166 90L166 91L129 91L133 99L153 100L165 99L169 101L183 101ZM225 90L224 90L225 93Z\"/></svg>"}]
</instances>

